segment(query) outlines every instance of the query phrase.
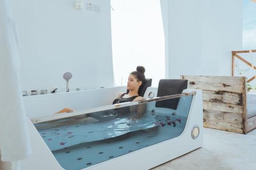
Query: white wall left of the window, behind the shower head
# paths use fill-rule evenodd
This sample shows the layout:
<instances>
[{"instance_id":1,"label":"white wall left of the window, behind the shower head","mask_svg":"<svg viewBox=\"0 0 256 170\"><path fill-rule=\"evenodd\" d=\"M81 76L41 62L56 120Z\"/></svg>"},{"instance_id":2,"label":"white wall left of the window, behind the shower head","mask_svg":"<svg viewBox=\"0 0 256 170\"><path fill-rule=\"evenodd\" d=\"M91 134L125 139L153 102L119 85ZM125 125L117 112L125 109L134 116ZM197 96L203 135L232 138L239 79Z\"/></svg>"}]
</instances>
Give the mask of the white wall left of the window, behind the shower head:
<instances>
[{"instance_id":1,"label":"white wall left of the window, behind the shower head","mask_svg":"<svg viewBox=\"0 0 256 170\"><path fill-rule=\"evenodd\" d=\"M83 0L101 12L73 8L72 0L12 0L19 29L23 90L113 86L110 0Z\"/></svg>"}]
</instances>

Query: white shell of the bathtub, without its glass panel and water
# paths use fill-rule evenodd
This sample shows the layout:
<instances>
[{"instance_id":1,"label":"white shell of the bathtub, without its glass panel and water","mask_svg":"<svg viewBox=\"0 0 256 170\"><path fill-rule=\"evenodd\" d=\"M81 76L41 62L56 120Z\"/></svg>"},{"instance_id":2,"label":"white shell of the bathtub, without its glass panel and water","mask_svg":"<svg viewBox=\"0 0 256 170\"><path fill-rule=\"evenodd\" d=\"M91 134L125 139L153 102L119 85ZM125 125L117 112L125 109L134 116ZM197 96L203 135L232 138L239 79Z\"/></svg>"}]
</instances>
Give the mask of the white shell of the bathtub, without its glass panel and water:
<instances>
[{"instance_id":1,"label":"white shell of the bathtub, without its glass panel and water","mask_svg":"<svg viewBox=\"0 0 256 170\"><path fill-rule=\"evenodd\" d=\"M112 104L112 101L116 98L117 94L119 92L125 91L126 87L114 87L111 89L98 89L96 91L90 90L73 93L69 92L38 96L27 96L25 97L27 116L38 117L51 115L64 107L71 107L73 109L79 110L81 107L82 109L84 109L96 106L98 107L100 105L104 106L106 104ZM144 94L144 98L148 98L148 93L150 93L151 91L155 93L155 96L157 95L157 88L150 87L147 88ZM196 93L193 96L193 100L191 101L191 106L189 109L184 131L180 136L156 143L149 147L95 164L84 169L149 169L202 147L202 91L186 89L183 92ZM51 99L52 97L55 100ZM98 99L100 99L100 102L98 102ZM37 102L41 103L38 104ZM30 106L31 104L33 104L32 107ZM126 104L128 105L129 103ZM46 108L46 106L47 109L44 109ZM54 109L52 109L51 107L54 107ZM90 111L90 109L88 109L86 112L92 112L92 110ZM195 126L197 126L200 129L200 135L197 138L193 138L191 136L192 133L194 132L193 130ZM63 169L29 119L28 128L32 147L32 155L28 159L20 161L20 169ZM134 163L131 164L130 162Z\"/></svg>"}]
</instances>

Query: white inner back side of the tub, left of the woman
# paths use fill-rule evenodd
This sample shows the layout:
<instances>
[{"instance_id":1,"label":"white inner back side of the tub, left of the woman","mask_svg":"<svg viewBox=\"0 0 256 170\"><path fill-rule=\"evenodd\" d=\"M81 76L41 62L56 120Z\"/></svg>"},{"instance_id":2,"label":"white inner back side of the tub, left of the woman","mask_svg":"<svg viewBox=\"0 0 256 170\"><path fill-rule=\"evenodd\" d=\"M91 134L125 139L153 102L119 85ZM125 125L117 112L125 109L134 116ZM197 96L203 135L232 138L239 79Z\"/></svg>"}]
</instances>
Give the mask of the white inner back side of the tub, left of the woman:
<instances>
[{"instance_id":1,"label":"white inner back side of the tub, left of the woman","mask_svg":"<svg viewBox=\"0 0 256 170\"><path fill-rule=\"evenodd\" d=\"M29 95L23 99L27 117L33 118L51 115L67 107L83 110L110 105L120 92L126 92L126 86Z\"/></svg>"}]
</instances>

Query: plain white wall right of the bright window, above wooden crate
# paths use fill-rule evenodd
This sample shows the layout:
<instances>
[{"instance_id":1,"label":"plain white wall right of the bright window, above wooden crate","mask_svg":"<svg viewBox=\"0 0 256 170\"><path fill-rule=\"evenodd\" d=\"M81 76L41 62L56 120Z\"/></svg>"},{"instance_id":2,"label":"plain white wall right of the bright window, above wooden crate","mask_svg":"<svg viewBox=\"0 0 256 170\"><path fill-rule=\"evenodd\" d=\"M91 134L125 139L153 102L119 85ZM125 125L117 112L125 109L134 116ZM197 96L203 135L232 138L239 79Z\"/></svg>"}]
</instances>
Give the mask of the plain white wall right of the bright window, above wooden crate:
<instances>
[{"instance_id":1,"label":"plain white wall right of the bright window, above wooden crate","mask_svg":"<svg viewBox=\"0 0 256 170\"><path fill-rule=\"evenodd\" d=\"M242 0L168 1L169 78L231 76L242 48Z\"/></svg>"}]
</instances>

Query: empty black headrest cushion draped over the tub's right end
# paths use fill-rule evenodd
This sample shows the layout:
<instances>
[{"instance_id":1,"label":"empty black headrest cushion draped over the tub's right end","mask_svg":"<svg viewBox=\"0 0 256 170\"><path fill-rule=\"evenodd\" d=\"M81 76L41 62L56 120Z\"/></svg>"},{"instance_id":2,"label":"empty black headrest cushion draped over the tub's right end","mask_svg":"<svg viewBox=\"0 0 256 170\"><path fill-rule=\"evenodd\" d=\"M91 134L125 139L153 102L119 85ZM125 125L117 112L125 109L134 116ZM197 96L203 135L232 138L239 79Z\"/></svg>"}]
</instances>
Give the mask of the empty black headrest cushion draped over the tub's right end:
<instances>
[{"instance_id":1,"label":"empty black headrest cushion draped over the tub's right end","mask_svg":"<svg viewBox=\"0 0 256 170\"><path fill-rule=\"evenodd\" d=\"M158 84L157 96L181 94L187 88L187 80L161 79ZM177 109L180 98L168 99L156 102L156 107Z\"/></svg>"}]
</instances>

